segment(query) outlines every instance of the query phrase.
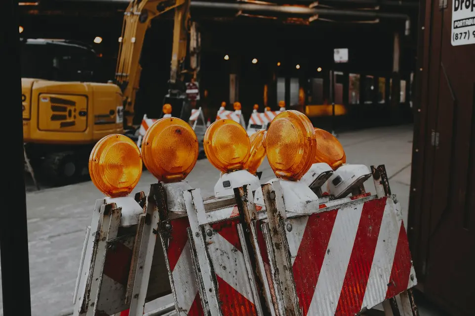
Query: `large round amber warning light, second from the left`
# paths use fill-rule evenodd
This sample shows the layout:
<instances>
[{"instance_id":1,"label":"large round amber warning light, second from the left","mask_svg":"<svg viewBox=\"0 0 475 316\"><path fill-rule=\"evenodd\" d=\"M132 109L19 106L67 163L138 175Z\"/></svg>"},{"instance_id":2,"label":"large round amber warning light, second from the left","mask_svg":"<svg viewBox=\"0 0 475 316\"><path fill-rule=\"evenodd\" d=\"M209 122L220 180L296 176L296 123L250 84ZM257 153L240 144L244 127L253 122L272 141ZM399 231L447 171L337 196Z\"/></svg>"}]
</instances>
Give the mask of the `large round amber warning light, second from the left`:
<instances>
[{"instance_id":1,"label":"large round amber warning light, second from the left","mask_svg":"<svg viewBox=\"0 0 475 316\"><path fill-rule=\"evenodd\" d=\"M198 160L198 139L184 120L166 117L155 122L142 140L147 169L162 182L183 180Z\"/></svg>"}]
</instances>

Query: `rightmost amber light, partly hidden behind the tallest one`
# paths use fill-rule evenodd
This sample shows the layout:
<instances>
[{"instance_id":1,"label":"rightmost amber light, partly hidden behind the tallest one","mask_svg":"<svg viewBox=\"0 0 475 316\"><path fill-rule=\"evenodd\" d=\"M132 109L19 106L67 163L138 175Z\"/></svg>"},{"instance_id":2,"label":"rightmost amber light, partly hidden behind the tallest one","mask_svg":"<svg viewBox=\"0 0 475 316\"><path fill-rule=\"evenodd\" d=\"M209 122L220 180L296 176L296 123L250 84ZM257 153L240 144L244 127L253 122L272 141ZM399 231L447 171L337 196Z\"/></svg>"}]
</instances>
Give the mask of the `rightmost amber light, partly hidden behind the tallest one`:
<instances>
[{"instance_id":1,"label":"rightmost amber light, partly hidden behind the tallest one","mask_svg":"<svg viewBox=\"0 0 475 316\"><path fill-rule=\"evenodd\" d=\"M314 163L327 163L333 170L346 163L346 154L340 141L331 133L315 128L317 150Z\"/></svg>"}]
</instances>

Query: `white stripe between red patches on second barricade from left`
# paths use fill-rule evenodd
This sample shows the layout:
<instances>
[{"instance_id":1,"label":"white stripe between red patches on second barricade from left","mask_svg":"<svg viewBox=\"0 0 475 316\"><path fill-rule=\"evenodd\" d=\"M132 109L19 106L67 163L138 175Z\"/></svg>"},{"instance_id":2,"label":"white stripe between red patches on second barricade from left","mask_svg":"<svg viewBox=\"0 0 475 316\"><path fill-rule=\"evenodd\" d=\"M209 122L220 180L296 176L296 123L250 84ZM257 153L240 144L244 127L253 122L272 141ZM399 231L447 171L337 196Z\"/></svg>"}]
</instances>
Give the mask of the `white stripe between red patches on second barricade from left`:
<instances>
[{"instance_id":1,"label":"white stripe between red patches on second barricade from left","mask_svg":"<svg viewBox=\"0 0 475 316\"><path fill-rule=\"evenodd\" d=\"M193 273L190 241L187 241L180 254L180 258L178 258L175 269L171 273L173 283L175 284L176 302L179 307L180 316L188 315L188 311L198 294L198 286Z\"/></svg>"}]
</instances>

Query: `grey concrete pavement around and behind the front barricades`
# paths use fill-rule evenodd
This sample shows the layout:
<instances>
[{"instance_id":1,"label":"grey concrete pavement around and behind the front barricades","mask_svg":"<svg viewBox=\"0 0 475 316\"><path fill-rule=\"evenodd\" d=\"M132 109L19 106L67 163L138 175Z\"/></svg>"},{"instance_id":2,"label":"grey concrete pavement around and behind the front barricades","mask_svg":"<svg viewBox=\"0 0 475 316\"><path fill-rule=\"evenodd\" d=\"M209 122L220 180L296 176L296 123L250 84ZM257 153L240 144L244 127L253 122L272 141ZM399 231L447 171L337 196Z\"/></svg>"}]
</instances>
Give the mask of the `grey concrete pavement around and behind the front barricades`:
<instances>
[{"instance_id":1,"label":"grey concrete pavement around and behind the front barricades","mask_svg":"<svg viewBox=\"0 0 475 316\"><path fill-rule=\"evenodd\" d=\"M385 164L391 189L407 218L412 150L412 126L368 129L339 136L353 164ZM264 161L261 182L274 174ZM219 172L206 160L198 161L187 180L200 187L203 196L213 195ZM136 191L148 192L155 178L144 172ZM372 180L366 190L374 192ZM78 271L85 227L90 224L94 201L100 192L88 181L41 191L27 190L30 278L33 316L61 316L72 312L72 295ZM1 276L0 276L1 277ZM1 289L0 289L1 294ZM149 304L147 310L170 303L170 296ZM421 316L439 316L422 308ZM0 295L0 316L2 313Z\"/></svg>"}]
</instances>

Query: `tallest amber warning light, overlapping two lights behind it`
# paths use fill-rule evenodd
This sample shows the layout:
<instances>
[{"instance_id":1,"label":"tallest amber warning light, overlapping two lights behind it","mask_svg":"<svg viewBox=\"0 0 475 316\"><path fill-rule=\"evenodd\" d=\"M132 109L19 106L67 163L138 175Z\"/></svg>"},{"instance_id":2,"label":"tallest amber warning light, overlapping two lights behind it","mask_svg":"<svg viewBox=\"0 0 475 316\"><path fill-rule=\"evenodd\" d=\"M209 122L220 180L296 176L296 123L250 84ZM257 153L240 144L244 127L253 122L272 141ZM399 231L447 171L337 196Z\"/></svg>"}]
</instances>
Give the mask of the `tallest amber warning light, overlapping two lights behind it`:
<instances>
[{"instance_id":1,"label":"tallest amber warning light, overlapping two lights behind it","mask_svg":"<svg viewBox=\"0 0 475 316\"><path fill-rule=\"evenodd\" d=\"M299 180L312 166L316 149L314 127L301 112L283 111L272 120L266 151L277 177Z\"/></svg>"}]
</instances>

